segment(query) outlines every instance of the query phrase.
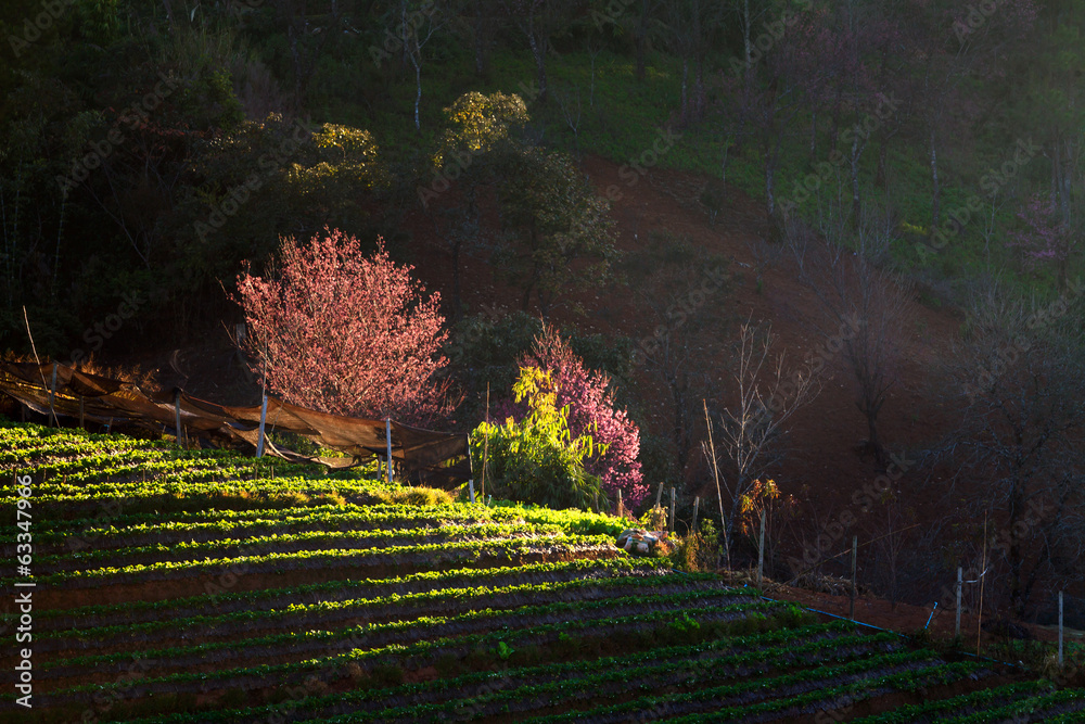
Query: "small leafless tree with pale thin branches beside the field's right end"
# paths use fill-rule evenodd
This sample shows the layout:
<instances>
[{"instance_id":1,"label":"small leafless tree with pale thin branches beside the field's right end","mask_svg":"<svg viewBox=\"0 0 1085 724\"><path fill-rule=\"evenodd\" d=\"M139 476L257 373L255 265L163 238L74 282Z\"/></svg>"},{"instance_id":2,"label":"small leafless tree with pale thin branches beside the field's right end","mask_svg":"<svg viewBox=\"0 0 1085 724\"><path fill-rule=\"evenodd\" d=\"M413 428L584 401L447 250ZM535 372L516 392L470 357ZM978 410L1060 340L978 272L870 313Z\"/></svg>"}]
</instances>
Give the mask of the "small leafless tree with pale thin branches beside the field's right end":
<instances>
[{"instance_id":1,"label":"small leafless tree with pale thin branches beside the field's right end","mask_svg":"<svg viewBox=\"0 0 1085 724\"><path fill-rule=\"evenodd\" d=\"M792 370L784 364L784 353L773 355L776 341L770 328L762 330L750 321L741 326L731 371L731 404L719 412L715 447L723 456L726 472L720 482L730 504L724 523L728 555L743 498L782 456L784 425L821 391L820 378L810 365Z\"/></svg>"}]
</instances>

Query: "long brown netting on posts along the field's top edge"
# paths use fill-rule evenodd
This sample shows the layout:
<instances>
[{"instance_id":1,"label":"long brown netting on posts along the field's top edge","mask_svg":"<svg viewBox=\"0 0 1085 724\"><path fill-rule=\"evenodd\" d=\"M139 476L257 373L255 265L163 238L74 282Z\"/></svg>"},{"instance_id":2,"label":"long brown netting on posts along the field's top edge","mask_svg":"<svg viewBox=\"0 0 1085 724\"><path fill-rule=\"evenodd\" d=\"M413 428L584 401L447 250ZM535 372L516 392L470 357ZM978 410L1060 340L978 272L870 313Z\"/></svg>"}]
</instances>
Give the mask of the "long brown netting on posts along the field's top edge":
<instances>
[{"instance_id":1,"label":"long brown netting on posts along the field's top edge","mask_svg":"<svg viewBox=\"0 0 1085 724\"><path fill-rule=\"evenodd\" d=\"M178 440L194 435L215 445L260 446L261 406L218 405L179 389L171 393L145 393L135 384L80 372L59 363L0 361L0 392L54 420L63 415L78 419L80 425L86 421L111 427L127 424L173 433ZM267 439L267 432L271 431L291 432L350 457L298 455L273 445ZM277 457L332 468L353 467L374 457L386 459L390 434L393 465L407 480L447 487L470 478L465 434L329 415L267 398L263 448Z\"/></svg>"}]
</instances>

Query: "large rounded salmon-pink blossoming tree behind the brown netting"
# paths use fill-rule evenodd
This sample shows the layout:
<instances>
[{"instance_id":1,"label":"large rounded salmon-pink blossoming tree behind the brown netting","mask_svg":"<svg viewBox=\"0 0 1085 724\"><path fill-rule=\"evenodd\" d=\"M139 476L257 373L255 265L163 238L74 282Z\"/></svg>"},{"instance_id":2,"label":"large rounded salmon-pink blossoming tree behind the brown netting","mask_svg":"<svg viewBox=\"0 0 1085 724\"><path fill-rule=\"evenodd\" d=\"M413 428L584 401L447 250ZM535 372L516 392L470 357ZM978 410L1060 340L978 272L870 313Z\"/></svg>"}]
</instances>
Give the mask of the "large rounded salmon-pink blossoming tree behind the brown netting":
<instances>
[{"instance_id":1,"label":"large rounded salmon-pink blossoming tree behind the brown netting","mask_svg":"<svg viewBox=\"0 0 1085 724\"><path fill-rule=\"evenodd\" d=\"M254 276L247 262L238 277L246 345L268 389L336 415L417 424L448 415L436 379L448 335L439 294L426 299L383 239L366 257L356 238L324 232L304 246L284 239L276 277Z\"/></svg>"}]
</instances>

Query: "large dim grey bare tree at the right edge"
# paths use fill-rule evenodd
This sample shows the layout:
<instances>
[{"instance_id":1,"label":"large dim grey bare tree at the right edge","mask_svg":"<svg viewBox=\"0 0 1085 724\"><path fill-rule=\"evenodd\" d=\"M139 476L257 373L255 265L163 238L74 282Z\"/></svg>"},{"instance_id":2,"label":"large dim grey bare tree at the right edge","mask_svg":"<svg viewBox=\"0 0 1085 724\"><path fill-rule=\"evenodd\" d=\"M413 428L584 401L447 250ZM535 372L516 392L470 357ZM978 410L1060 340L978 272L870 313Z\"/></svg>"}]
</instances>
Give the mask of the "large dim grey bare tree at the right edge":
<instances>
[{"instance_id":1,"label":"large dim grey bare tree at the right edge","mask_svg":"<svg viewBox=\"0 0 1085 724\"><path fill-rule=\"evenodd\" d=\"M953 471L945 493L966 500L961 513L972 520L990 511L991 549L1018 617L1037 585L1085 579L1080 292L1035 305L994 289L973 302L968 335L942 355L947 407L960 415L937 449ZM959 486L970 494L955 495Z\"/></svg>"}]
</instances>

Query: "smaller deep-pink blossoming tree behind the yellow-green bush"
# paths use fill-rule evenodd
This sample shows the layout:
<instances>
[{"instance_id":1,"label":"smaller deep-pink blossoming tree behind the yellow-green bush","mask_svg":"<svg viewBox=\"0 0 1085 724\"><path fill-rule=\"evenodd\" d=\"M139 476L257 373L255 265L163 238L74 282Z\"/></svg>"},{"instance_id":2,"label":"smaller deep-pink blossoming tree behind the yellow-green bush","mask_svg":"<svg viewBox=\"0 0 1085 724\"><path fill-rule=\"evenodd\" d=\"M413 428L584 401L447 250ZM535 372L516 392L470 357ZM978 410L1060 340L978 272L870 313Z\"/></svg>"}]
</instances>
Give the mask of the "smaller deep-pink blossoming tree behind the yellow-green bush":
<instances>
[{"instance_id":1,"label":"smaller deep-pink blossoming tree behind the yellow-green bush","mask_svg":"<svg viewBox=\"0 0 1085 724\"><path fill-rule=\"evenodd\" d=\"M569 431L575 439L590 435L597 452L584 461L585 469L602 481L610 495L622 491L622 499L636 507L648 495L640 471L640 430L625 410L614 405L610 378L603 372L585 369L569 343L558 330L546 325L535 338L531 353L520 360L521 368L550 370L557 389L559 408L569 406ZM512 410L516 419L526 408ZM601 452L599 452L601 450Z\"/></svg>"}]
</instances>

